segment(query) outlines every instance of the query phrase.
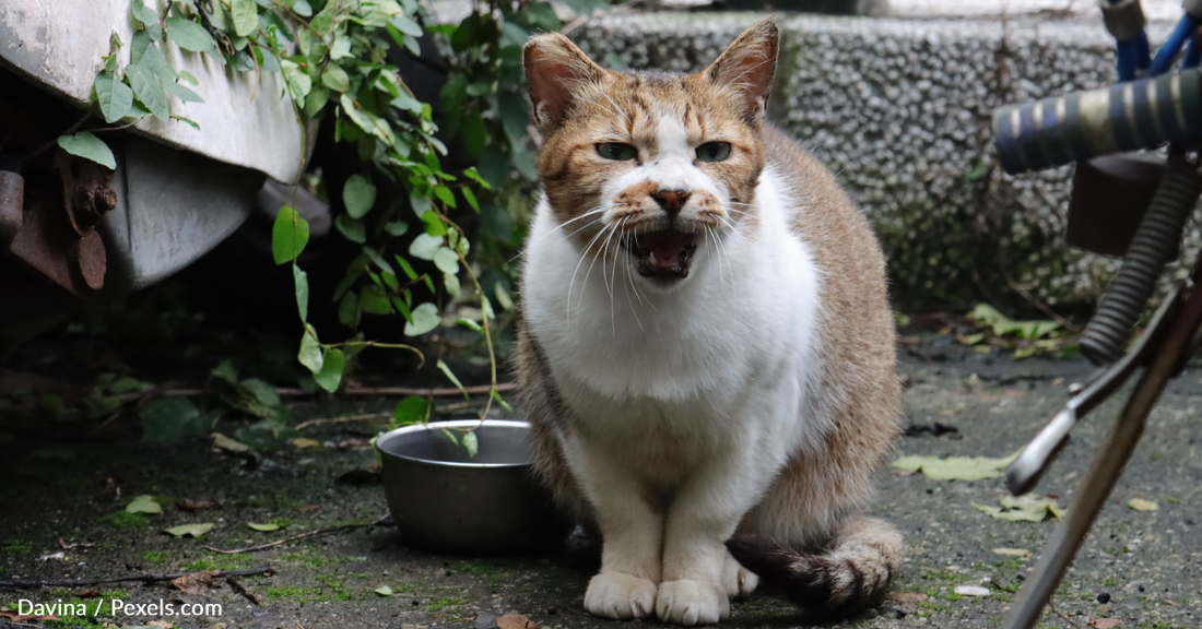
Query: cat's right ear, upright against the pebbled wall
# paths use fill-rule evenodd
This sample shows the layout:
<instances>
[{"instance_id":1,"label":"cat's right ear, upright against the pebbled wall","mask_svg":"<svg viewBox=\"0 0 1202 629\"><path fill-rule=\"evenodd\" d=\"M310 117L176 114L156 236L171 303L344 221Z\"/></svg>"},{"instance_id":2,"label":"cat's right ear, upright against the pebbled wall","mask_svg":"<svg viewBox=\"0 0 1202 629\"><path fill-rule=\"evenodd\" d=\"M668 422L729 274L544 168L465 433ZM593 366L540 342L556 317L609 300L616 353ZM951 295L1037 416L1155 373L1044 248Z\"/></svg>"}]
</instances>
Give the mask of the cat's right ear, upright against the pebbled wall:
<instances>
[{"instance_id":1,"label":"cat's right ear, upright against the pebbled wall","mask_svg":"<svg viewBox=\"0 0 1202 629\"><path fill-rule=\"evenodd\" d=\"M766 19L743 31L726 50L706 68L714 85L736 90L744 118L758 124L763 118L772 80L776 74L780 31Z\"/></svg>"}]
</instances>

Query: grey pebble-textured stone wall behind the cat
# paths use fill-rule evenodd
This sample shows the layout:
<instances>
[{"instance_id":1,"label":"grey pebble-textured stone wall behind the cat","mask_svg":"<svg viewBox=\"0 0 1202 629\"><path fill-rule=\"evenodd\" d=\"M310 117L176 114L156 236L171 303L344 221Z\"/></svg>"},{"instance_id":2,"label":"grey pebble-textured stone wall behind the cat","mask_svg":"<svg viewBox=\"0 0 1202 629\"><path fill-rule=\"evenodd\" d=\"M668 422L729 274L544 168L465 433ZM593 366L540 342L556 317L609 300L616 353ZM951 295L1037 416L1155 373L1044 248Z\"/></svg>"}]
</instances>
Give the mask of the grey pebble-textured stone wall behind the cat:
<instances>
[{"instance_id":1,"label":"grey pebble-textured stone wall behind the cat","mask_svg":"<svg viewBox=\"0 0 1202 629\"><path fill-rule=\"evenodd\" d=\"M572 37L611 65L692 72L760 17L609 16ZM781 65L769 115L865 210L900 307L1093 304L1115 262L1063 241L1071 167L1002 174L990 121L1000 104L1111 83L1112 42L1100 19L778 22ZM1170 28L1153 24L1153 41ZM1200 240L1190 228L1189 259Z\"/></svg>"}]
</instances>

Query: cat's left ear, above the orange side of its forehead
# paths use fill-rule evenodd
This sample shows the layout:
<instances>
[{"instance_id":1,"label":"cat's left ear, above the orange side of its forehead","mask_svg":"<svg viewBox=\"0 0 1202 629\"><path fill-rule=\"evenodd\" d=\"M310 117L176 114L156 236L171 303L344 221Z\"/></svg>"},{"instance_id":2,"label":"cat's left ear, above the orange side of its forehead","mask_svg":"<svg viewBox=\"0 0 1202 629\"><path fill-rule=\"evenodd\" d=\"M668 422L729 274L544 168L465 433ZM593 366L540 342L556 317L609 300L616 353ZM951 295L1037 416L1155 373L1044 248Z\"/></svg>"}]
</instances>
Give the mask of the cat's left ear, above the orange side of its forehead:
<instances>
[{"instance_id":1,"label":"cat's left ear, above the orange side of its forehead","mask_svg":"<svg viewBox=\"0 0 1202 629\"><path fill-rule=\"evenodd\" d=\"M576 90L601 80L605 70L558 32L538 35L522 50L534 119L540 126L564 119Z\"/></svg>"}]
</instances>

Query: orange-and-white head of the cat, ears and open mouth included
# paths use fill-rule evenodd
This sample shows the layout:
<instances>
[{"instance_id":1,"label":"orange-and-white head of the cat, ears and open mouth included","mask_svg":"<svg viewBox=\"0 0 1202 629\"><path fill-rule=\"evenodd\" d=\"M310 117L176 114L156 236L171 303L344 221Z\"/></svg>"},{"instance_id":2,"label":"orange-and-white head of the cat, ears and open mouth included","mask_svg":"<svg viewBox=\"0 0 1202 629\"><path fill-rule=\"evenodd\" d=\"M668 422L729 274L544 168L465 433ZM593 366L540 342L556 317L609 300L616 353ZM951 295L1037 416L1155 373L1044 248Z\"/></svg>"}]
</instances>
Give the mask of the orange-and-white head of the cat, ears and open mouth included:
<instances>
[{"instance_id":1,"label":"orange-and-white head of the cat, ears and open mouth included","mask_svg":"<svg viewBox=\"0 0 1202 629\"><path fill-rule=\"evenodd\" d=\"M561 35L526 44L538 170L565 235L671 287L728 230L749 229L775 60L770 22L689 76L609 72Z\"/></svg>"}]
</instances>

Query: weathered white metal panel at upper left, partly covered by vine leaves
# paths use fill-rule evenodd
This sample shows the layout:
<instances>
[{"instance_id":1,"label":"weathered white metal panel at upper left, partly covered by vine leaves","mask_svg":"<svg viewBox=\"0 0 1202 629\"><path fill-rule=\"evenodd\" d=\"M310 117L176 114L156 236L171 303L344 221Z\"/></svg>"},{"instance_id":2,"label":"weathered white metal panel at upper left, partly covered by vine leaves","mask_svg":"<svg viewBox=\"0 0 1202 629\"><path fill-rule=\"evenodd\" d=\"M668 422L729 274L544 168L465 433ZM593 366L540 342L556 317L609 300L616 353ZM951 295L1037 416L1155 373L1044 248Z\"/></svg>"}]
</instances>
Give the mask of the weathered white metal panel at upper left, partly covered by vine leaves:
<instances>
[{"instance_id":1,"label":"weathered white metal panel at upper left, partly covered by vine leaves","mask_svg":"<svg viewBox=\"0 0 1202 629\"><path fill-rule=\"evenodd\" d=\"M130 0L0 0L0 62L28 74L54 92L87 106L91 85L115 31L129 61L133 36ZM154 5L154 0L148 2ZM171 113L195 120L191 126L153 116L135 131L168 145L226 163L261 170L292 182L304 155L302 127L278 73L255 74L224 68L208 55L180 50L169 41L162 50L175 70L200 79L192 88L203 103L171 101ZM2 95L0 95L2 97Z\"/></svg>"}]
</instances>

